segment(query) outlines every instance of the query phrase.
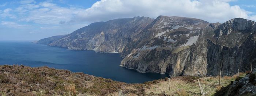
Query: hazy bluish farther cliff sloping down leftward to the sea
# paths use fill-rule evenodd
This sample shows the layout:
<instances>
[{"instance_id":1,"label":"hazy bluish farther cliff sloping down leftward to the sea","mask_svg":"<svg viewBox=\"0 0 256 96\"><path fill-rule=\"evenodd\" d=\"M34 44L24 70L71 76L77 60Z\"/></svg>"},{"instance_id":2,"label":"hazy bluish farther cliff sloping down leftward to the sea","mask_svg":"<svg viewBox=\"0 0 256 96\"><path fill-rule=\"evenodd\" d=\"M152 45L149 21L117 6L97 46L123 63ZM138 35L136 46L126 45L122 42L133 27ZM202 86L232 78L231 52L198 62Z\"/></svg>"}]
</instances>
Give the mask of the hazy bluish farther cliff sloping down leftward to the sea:
<instances>
[{"instance_id":1,"label":"hazy bluish farther cliff sloping down leftward to the sea","mask_svg":"<svg viewBox=\"0 0 256 96\"><path fill-rule=\"evenodd\" d=\"M133 36L139 34L153 20L148 17L134 17L96 22L49 45L75 50L122 52L127 43L133 40Z\"/></svg>"}]
</instances>

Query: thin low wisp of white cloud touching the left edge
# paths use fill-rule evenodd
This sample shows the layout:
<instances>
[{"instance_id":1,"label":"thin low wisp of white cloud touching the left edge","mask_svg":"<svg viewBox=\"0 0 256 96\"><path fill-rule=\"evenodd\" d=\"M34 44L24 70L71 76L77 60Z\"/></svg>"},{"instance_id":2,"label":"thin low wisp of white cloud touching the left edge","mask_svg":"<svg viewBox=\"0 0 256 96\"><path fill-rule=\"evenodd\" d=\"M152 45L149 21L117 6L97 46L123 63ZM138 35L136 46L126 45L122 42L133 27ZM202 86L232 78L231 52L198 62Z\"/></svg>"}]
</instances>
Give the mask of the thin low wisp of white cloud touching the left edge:
<instances>
[{"instance_id":1,"label":"thin low wisp of white cloud touching the left edge","mask_svg":"<svg viewBox=\"0 0 256 96\"><path fill-rule=\"evenodd\" d=\"M8 28L17 28L17 29L26 29L30 27L30 25L21 25L12 21L2 21L1 25L7 26Z\"/></svg>"}]
</instances>

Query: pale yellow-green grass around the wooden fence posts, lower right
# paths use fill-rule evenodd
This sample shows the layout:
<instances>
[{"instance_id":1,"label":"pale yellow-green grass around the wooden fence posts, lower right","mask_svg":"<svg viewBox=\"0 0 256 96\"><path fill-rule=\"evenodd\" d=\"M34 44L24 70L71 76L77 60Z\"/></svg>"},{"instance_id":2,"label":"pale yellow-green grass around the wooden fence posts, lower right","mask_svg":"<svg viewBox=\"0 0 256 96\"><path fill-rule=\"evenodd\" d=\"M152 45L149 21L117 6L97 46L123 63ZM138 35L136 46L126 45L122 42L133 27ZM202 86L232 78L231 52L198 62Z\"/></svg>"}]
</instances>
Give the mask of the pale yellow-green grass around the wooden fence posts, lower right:
<instances>
[{"instance_id":1,"label":"pale yellow-green grass around the wooden fence posts, lower right","mask_svg":"<svg viewBox=\"0 0 256 96\"><path fill-rule=\"evenodd\" d=\"M244 77L246 73L241 73L240 78ZM183 78L183 79L180 79ZM199 85L194 77L193 80L186 79L188 77L178 77L170 80L170 88L174 96L200 96ZM192 77L190 77L192 78ZM202 77L199 78L203 91L206 96L213 96L215 92L219 91L222 87L226 87L231 81L236 80L237 75L234 76L223 76L221 78L221 86L219 86L219 76L215 77ZM169 86L167 80L159 80L157 84L148 85L146 94L161 94L165 93L169 95ZM182 95L181 95L182 94Z\"/></svg>"}]
</instances>

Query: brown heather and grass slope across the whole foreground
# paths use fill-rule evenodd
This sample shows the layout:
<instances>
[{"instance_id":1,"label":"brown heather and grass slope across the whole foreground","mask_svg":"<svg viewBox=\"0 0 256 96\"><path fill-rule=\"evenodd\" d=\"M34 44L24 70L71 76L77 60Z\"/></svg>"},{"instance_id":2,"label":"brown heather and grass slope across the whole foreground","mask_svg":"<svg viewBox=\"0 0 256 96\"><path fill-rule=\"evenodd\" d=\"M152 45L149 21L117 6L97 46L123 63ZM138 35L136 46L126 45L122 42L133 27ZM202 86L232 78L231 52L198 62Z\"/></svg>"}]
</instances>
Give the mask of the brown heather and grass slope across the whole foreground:
<instances>
[{"instance_id":1,"label":"brown heather and grass slope across the whole foreground","mask_svg":"<svg viewBox=\"0 0 256 96\"><path fill-rule=\"evenodd\" d=\"M240 76L243 76L242 74ZM223 77L222 86L227 86L236 76ZM175 96L200 95L196 80L201 81L204 92L212 96L221 89L218 77L179 76L170 79ZM75 84L78 96L158 96L169 94L168 79L159 79L143 84L127 84L68 70L48 67L0 66L0 95L2 96L68 96L63 83Z\"/></svg>"}]
</instances>

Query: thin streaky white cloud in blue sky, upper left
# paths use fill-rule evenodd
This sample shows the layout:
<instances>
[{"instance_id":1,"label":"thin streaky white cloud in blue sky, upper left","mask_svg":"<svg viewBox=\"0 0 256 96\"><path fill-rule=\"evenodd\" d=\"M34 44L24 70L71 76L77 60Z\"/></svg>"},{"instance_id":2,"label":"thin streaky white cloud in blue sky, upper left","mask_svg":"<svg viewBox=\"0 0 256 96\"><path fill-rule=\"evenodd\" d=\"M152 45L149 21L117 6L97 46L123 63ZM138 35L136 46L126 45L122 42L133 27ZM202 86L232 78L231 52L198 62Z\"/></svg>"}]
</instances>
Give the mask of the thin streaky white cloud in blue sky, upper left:
<instances>
[{"instance_id":1,"label":"thin streaky white cloud in blue sky, upper left","mask_svg":"<svg viewBox=\"0 0 256 96\"><path fill-rule=\"evenodd\" d=\"M20 6L19 9L26 9L27 6ZM65 24L70 21L80 9L64 8L57 4L43 2L33 5L31 9L25 10L27 16L20 18L19 21L35 22L38 24ZM22 12L22 10L20 10Z\"/></svg>"}]
</instances>

